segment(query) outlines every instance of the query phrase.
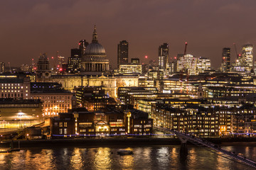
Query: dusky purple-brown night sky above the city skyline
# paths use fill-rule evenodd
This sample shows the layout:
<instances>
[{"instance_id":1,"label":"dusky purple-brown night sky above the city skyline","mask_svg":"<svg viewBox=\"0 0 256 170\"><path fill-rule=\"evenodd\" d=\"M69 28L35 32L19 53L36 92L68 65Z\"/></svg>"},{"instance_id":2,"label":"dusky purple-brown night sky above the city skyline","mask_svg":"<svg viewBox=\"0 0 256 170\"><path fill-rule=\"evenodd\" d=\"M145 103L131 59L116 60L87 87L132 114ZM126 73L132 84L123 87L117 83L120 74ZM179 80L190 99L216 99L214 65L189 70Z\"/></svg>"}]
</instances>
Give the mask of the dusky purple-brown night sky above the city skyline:
<instances>
[{"instance_id":1,"label":"dusky purple-brown night sky above the city skyline","mask_svg":"<svg viewBox=\"0 0 256 170\"><path fill-rule=\"evenodd\" d=\"M129 61L156 60L164 42L174 57L187 41L187 53L219 67L223 47L231 47L234 60L233 42L238 52L246 43L256 45L255 6L255 0L1 0L0 62L31 64L41 52L51 57L56 51L67 60L80 40L91 42L96 25L113 67L121 40L129 42Z\"/></svg>"}]
</instances>

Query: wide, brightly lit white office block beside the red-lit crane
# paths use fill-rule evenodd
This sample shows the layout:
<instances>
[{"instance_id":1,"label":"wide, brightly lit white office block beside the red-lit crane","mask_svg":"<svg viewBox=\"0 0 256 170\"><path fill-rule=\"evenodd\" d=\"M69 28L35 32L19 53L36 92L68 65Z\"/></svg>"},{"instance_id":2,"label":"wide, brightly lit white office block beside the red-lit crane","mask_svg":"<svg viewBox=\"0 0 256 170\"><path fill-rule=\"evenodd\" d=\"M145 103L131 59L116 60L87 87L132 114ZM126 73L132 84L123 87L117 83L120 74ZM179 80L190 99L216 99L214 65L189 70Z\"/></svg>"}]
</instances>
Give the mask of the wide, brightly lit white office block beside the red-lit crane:
<instances>
[{"instance_id":1,"label":"wide, brightly lit white office block beside the red-lit crane","mask_svg":"<svg viewBox=\"0 0 256 170\"><path fill-rule=\"evenodd\" d=\"M177 72L188 72L189 75L196 75L196 57L193 55L182 55L177 60Z\"/></svg>"}]
</instances>

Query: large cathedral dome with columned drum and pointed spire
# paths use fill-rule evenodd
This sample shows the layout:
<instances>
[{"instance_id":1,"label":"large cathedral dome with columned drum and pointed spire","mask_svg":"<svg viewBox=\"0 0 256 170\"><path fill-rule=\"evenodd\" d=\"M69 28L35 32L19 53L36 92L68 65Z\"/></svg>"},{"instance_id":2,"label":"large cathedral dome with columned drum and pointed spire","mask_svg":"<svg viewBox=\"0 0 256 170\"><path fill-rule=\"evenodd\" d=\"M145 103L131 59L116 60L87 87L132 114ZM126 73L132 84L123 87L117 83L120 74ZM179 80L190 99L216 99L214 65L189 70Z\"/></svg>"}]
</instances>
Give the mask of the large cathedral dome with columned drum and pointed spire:
<instances>
[{"instance_id":1,"label":"large cathedral dome with columned drum and pointed spire","mask_svg":"<svg viewBox=\"0 0 256 170\"><path fill-rule=\"evenodd\" d=\"M82 57L82 72L92 74L92 72L107 72L109 70L109 60L106 59L105 48L97 40L96 26L92 34L92 43L87 45L85 55Z\"/></svg>"}]
</instances>

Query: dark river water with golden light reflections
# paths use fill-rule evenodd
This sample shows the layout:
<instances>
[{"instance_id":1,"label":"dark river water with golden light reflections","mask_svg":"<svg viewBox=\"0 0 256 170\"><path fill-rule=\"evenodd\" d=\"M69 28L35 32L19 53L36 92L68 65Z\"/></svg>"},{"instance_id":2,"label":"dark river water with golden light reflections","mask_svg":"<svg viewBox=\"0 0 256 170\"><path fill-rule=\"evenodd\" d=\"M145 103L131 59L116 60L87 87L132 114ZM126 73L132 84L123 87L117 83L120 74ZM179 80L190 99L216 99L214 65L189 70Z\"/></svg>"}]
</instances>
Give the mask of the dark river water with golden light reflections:
<instances>
[{"instance_id":1,"label":"dark river water with golden light reflections","mask_svg":"<svg viewBox=\"0 0 256 170\"><path fill-rule=\"evenodd\" d=\"M222 146L256 160L256 143ZM120 156L118 149L132 149L134 154ZM252 169L201 147L188 145L187 156L179 149L177 145L28 148L0 153L0 169Z\"/></svg>"}]
</instances>

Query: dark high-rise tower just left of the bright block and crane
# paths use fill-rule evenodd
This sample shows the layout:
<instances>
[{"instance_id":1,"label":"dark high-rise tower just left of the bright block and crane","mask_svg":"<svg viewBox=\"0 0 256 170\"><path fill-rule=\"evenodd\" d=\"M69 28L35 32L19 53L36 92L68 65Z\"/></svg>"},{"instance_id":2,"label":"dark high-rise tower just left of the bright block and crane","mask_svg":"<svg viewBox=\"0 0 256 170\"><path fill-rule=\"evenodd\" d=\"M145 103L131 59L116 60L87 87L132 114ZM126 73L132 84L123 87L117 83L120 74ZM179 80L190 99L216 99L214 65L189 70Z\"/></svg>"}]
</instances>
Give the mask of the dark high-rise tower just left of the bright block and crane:
<instances>
[{"instance_id":1,"label":"dark high-rise tower just left of the bright block and crane","mask_svg":"<svg viewBox=\"0 0 256 170\"><path fill-rule=\"evenodd\" d=\"M169 44L159 46L159 69L166 70L169 57Z\"/></svg>"}]
</instances>

